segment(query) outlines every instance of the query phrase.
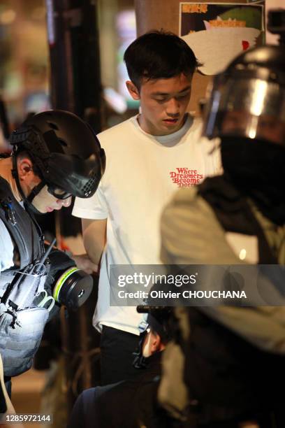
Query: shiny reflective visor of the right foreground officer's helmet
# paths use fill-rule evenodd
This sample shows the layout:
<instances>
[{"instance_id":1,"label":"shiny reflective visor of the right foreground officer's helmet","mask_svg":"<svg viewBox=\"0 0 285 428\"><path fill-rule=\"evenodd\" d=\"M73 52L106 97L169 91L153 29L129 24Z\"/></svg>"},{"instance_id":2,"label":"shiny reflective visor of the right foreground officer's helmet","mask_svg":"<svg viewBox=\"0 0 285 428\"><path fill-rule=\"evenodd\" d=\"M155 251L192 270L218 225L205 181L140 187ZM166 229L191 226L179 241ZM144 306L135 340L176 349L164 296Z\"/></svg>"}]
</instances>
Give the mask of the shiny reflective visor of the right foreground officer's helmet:
<instances>
[{"instance_id":1,"label":"shiny reflective visor of the right foreground officer's helmet","mask_svg":"<svg viewBox=\"0 0 285 428\"><path fill-rule=\"evenodd\" d=\"M260 138L285 145L285 89L261 79L214 83L203 135Z\"/></svg>"}]
</instances>

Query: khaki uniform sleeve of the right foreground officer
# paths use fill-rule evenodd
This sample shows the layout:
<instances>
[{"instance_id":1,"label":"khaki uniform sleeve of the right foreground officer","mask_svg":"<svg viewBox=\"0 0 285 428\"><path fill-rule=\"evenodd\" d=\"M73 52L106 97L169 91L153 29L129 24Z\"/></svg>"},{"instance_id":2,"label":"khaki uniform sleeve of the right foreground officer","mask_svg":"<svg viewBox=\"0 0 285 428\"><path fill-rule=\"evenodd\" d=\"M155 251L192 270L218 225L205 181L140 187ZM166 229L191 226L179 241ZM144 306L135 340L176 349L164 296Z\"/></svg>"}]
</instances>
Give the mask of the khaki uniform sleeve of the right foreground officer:
<instances>
[{"instance_id":1,"label":"khaki uniform sleeve of the right foreground officer","mask_svg":"<svg viewBox=\"0 0 285 428\"><path fill-rule=\"evenodd\" d=\"M163 212L161 234L164 264L241 263L226 242L212 208L198 196L196 188L177 192ZM276 292L268 278L259 276L258 281ZM285 306L203 306L200 311L258 348L285 353Z\"/></svg>"}]
</instances>

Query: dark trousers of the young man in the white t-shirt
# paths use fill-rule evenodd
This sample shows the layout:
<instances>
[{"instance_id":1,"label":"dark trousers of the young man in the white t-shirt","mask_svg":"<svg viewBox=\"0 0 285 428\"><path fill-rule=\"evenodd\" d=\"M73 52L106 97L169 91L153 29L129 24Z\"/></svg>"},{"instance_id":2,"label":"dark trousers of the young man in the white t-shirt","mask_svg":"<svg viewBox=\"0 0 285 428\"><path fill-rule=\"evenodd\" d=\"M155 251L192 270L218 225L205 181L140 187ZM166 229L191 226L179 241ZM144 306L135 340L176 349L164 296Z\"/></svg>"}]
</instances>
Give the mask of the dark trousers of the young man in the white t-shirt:
<instances>
[{"instance_id":1,"label":"dark trousers of the young man in the white t-shirt","mask_svg":"<svg viewBox=\"0 0 285 428\"><path fill-rule=\"evenodd\" d=\"M117 383L140 374L133 367L139 336L103 325L101 335L101 385Z\"/></svg>"}]
</instances>

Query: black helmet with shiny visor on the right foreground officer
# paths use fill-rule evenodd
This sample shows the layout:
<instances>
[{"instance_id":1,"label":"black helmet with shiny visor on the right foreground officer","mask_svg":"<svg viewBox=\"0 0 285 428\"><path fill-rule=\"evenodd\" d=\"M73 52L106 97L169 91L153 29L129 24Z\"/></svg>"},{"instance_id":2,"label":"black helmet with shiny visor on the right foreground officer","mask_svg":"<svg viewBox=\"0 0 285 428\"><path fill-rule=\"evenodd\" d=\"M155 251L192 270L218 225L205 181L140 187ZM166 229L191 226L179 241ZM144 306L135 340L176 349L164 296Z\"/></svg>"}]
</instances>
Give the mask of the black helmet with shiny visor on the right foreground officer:
<instances>
[{"instance_id":1,"label":"black helmet with shiny visor on the right foreground officer","mask_svg":"<svg viewBox=\"0 0 285 428\"><path fill-rule=\"evenodd\" d=\"M285 145L285 46L236 57L208 90L203 135Z\"/></svg>"}]
</instances>

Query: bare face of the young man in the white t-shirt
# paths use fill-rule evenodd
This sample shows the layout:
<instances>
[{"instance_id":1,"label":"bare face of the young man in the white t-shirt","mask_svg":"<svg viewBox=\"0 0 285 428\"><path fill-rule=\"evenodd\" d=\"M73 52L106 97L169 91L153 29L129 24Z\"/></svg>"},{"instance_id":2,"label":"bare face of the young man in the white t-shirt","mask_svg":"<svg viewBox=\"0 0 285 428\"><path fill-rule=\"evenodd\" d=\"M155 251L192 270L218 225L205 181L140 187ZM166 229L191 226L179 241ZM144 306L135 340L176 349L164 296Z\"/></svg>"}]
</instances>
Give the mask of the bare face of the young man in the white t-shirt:
<instances>
[{"instance_id":1,"label":"bare face of the young man in the white t-shirt","mask_svg":"<svg viewBox=\"0 0 285 428\"><path fill-rule=\"evenodd\" d=\"M142 79L140 91L126 83L133 99L140 100L140 127L152 135L168 135L180 129L191 96L192 74L167 79Z\"/></svg>"}]
</instances>

